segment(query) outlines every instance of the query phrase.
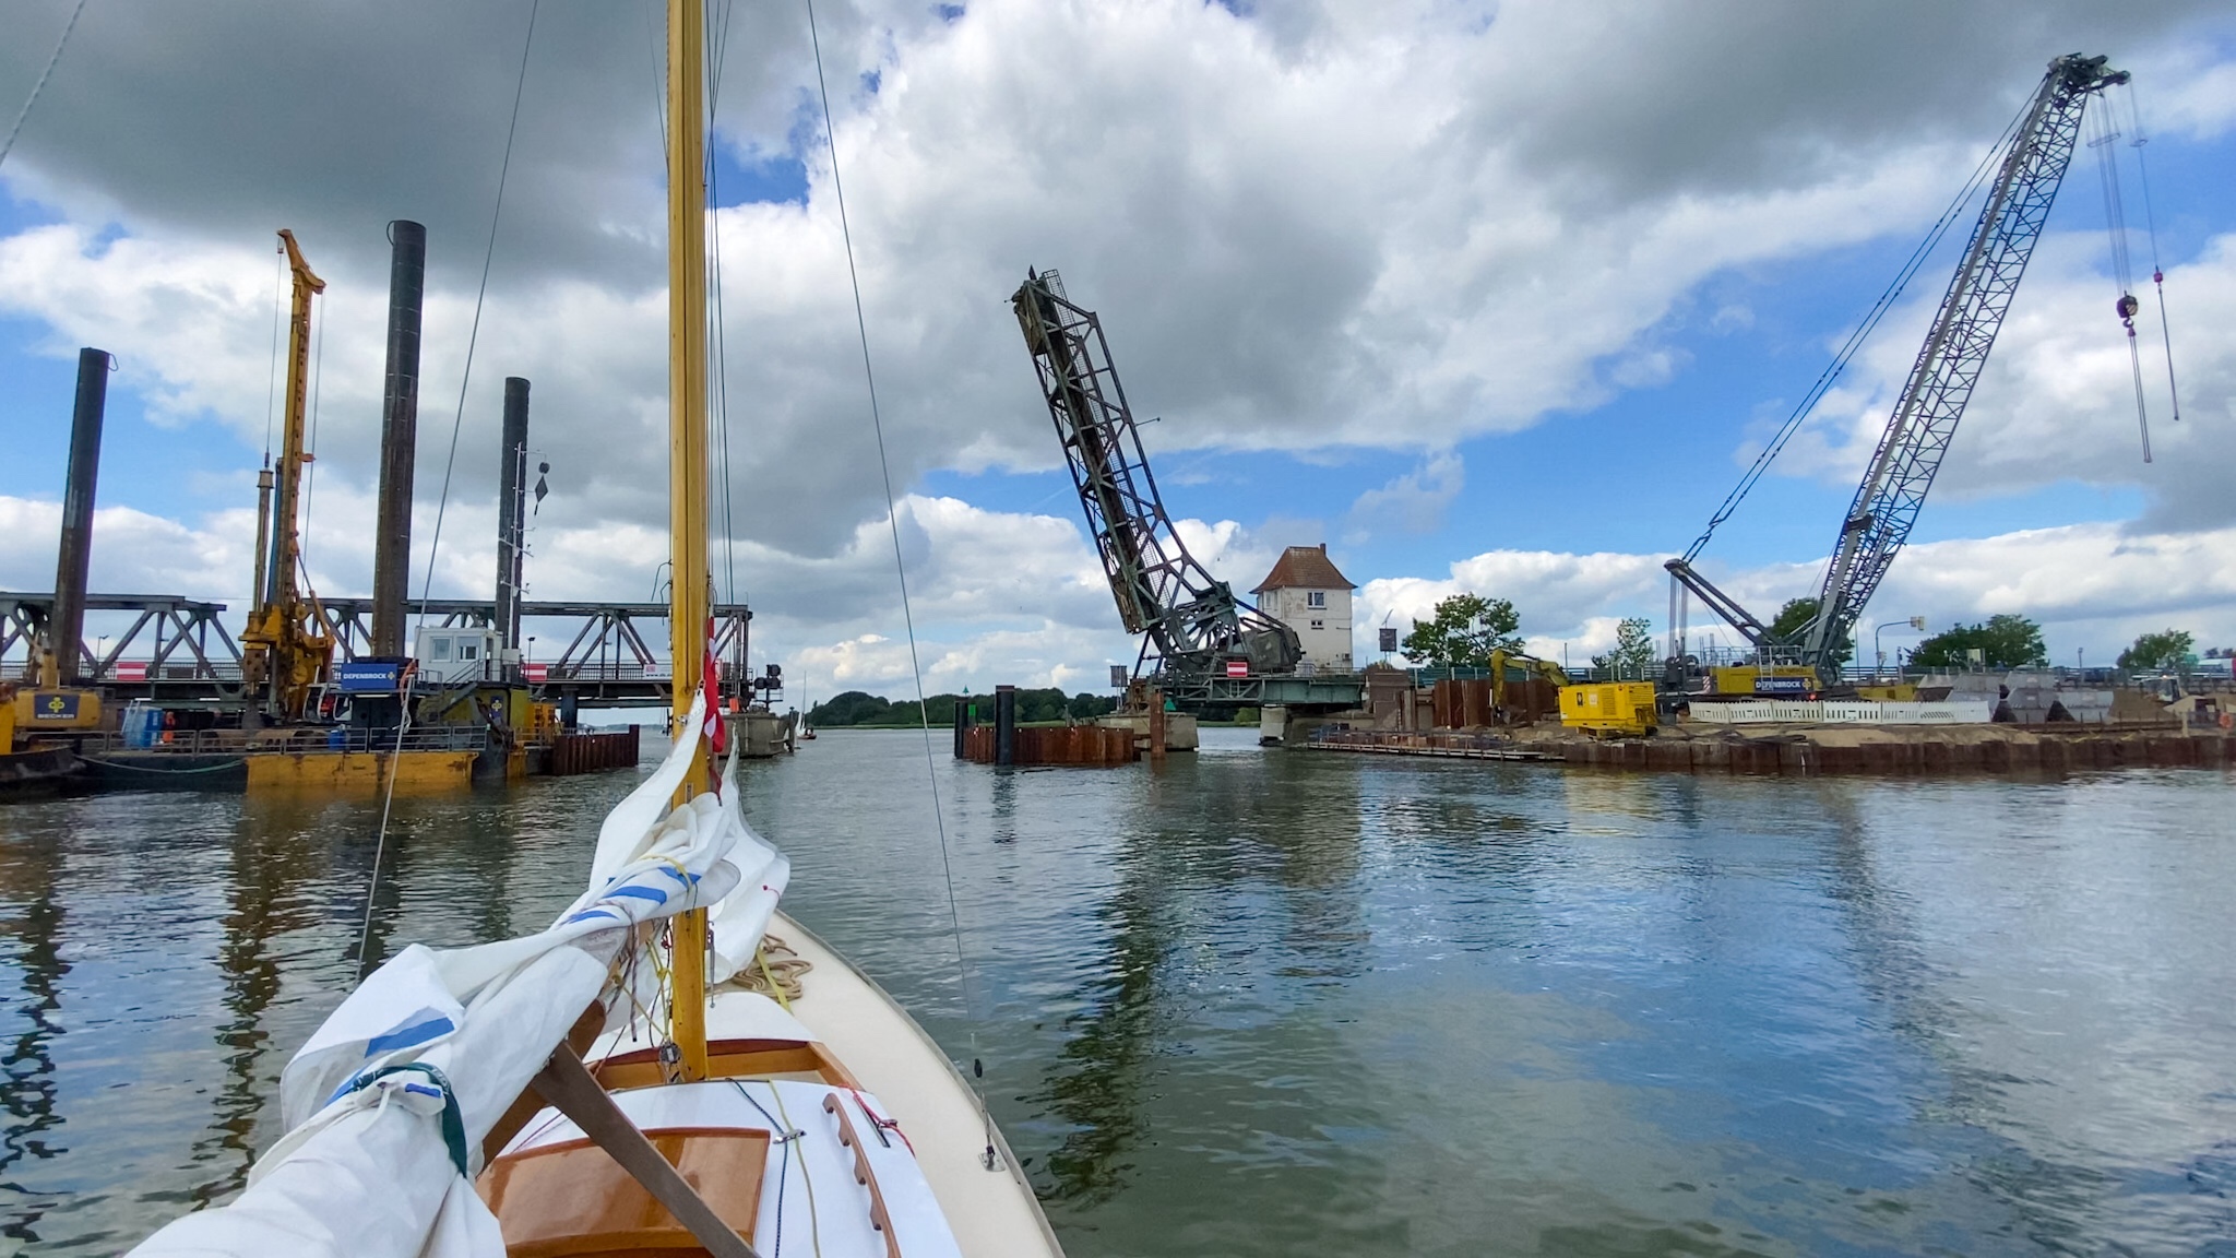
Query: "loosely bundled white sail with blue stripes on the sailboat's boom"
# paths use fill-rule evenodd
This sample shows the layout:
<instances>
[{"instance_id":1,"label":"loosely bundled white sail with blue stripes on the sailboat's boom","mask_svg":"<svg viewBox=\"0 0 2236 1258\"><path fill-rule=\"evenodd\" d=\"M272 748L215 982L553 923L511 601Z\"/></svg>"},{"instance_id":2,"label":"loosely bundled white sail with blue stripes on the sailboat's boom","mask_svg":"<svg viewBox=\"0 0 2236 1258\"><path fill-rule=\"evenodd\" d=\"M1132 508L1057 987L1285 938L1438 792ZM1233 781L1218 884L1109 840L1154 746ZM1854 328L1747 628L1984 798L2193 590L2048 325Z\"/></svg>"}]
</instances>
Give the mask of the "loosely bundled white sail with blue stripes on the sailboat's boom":
<instances>
[{"instance_id":1,"label":"loosely bundled white sail with blue stripes on the sailboat's boom","mask_svg":"<svg viewBox=\"0 0 2236 1258\"><path fill-rule=\"evenodd\" d=\"M481 1142L593 1001L606 1030L664 1023L646 922L709 907L720 983L760 945L792 864L720 795L669 799L704 739L704 694L666 761L606 817L590 886L550 929L463 949L411 945L342 1001L280 1077L286 1135L226 1207L141 1242L143 1258L503 1258L474 1193Z\"/></svg>"}]
</instances>

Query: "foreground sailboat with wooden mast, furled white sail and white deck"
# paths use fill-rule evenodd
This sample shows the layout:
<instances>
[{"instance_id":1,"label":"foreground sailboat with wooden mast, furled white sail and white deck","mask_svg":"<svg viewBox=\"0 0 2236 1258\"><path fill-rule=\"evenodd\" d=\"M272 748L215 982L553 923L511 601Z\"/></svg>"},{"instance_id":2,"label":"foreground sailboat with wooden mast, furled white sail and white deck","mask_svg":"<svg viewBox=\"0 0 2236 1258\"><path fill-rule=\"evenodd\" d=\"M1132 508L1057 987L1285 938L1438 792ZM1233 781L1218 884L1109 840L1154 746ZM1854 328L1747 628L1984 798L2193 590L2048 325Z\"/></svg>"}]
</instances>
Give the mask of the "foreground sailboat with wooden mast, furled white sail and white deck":
<instances>
[{"instance_id":1,"label":"foreground sailboat with wooden mast, furled white sail and white deck","mask_svg":"<svg viewBox=\"0 0 2236 1258\"><path fill-rule=\"evenodd\" d=\"M1062 1254L939 1045L778 913L736 750L709 777L702 22L669 2L675 743L557 922L367 976L288 1061L241 1195L134 1254Z\"/></svg>"}]
</instances>

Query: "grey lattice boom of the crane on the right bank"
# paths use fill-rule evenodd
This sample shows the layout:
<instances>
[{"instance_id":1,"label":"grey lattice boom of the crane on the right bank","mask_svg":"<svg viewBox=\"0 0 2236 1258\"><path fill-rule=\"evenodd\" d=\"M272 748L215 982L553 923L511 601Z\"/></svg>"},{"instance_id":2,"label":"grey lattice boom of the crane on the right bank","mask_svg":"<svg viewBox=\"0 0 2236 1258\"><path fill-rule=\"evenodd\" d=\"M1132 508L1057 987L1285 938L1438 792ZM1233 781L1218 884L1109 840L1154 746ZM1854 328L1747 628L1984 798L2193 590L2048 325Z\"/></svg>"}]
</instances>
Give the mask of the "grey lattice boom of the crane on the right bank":
<instances>
[{"instance_id":1,"label":"grey lattice boom of the crane on the right bank","mask_svg":"<svg viewBox=\"0 0 2236 1258\"><path fill-rule=\"evenodd\" d=\"M1957 436L1957 421L1972 401L1979 372L1995 349L1995 334L2003 327L2019 275L2026 273L2066 163L2073 161L2082 107L2091 94L2129 78L2124 69L2104 69L2104 60L2059 56L2041 76L1979 210L1963 262L1941 298L1932 331L1894 403L1887 432L1878 439L1872 468L1840 524L1840 539L1818 591L1818 616L1802 636L1802 658L1813 665L1827 665L1847 647L1863 604L1885 580L1925 506L1925 490Z\"/></svg>"}]
</instances>

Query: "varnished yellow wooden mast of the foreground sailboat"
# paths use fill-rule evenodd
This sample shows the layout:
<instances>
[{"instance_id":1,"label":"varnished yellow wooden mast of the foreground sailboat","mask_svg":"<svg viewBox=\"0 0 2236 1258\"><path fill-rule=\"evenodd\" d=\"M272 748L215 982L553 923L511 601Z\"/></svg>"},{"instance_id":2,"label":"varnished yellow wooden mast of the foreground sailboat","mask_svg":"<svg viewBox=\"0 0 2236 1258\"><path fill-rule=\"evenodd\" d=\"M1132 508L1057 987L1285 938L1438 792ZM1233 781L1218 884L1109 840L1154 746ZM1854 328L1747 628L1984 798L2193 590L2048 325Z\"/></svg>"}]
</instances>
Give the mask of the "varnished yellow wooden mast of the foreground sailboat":
<instances>
[{"instance_id":1,"label":"varnished yellow wooden mast of the foreground sailboat","mask_svg":"<svg viewBox=\"0 0 2236 1258\"><path fill-rule=\"evenodd\" d=\"M704 2L669 0L669 546L675 586L669 607L669 689L675 723L691 712L707 651L707 112ZM713 710L716 696L707 696ZM704 743L675 792L682 804L707 786ZM673 927L671 1034L682 1077L707 1077L707 909Z\"/></svg>"}]
</instances>

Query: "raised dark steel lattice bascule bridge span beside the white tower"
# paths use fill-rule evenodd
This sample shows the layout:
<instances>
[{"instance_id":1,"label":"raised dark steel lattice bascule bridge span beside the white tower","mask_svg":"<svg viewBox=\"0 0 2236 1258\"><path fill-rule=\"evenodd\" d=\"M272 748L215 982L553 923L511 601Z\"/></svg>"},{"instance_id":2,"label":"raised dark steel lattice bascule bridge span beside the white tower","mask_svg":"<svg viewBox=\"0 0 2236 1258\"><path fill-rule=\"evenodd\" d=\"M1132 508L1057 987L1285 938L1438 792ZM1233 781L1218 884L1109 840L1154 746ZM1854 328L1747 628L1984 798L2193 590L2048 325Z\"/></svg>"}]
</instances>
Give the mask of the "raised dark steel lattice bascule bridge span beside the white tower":
<instances>
[{"instance_id":1,"label":"raised dark steel lattice bascule bridge span beside the white tower","mask_svg":"<svg viewBox=\"0 0 2236 1258\"><path fill-rule=\"evenodd\" d=\"M1145 636L1136 674L1210 676L1230 658L1250 660L1257 674L1295 669L1304 656L1297 631L1237 598L1174 531L1111 365L1102 320L1064 295L1055 271L1029 271L1011 307L1087 510L1087 531L1118 600L1118 618L1127 633Z\"/></svg>"}]
</instances>

